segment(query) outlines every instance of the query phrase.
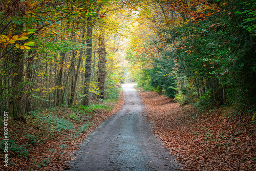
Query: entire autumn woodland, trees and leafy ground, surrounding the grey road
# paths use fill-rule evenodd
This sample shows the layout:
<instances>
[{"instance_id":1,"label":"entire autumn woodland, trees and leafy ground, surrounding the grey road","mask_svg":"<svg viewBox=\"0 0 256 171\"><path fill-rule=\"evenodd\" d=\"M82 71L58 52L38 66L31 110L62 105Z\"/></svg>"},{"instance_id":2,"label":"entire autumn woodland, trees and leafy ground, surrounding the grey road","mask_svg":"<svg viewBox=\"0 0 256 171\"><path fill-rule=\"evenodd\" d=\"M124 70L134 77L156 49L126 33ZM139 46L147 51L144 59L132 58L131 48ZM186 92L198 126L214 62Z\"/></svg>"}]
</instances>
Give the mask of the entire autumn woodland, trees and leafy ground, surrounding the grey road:
<instances>
[{"instance_id":1,"label":"entire autumn woodland, trees and leafy ground, surrounding the grey road","mask_svg":"<svg viewBox=\"0 0 256 171\"><path fill-rule=\"evenodd\" d=\"M8 170L68 169L127 82L181 169L256 168L255 0L3 0L0 17L1 169L5 136Z\"/></svg>"}]
</instances>

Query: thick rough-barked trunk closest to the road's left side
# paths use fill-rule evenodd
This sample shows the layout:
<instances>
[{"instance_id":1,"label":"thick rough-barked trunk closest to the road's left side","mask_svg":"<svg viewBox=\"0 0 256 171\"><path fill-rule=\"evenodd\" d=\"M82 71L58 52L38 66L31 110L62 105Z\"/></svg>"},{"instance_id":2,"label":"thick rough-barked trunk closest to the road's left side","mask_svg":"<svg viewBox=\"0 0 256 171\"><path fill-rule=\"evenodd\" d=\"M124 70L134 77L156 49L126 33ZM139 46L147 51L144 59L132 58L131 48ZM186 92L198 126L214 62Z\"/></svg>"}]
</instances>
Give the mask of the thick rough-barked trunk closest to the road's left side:
<instances>
[{"instance_id":1,"label":"thick rough-barked trunk closest to the road's left side","mask_svg":"<svg viewBox=\"0 0 256 171\"><path fill-rule=\"evenodd\" d=\"M98 99L104 99L104 88L105 88L105 75L106 75L106 48L104 44L104 37L101 35L99 37L99 49L98 49L98 54L99 54L99 74L98 74L98 87L99 87L99 95Z\"/></svg>"}]
</instances>

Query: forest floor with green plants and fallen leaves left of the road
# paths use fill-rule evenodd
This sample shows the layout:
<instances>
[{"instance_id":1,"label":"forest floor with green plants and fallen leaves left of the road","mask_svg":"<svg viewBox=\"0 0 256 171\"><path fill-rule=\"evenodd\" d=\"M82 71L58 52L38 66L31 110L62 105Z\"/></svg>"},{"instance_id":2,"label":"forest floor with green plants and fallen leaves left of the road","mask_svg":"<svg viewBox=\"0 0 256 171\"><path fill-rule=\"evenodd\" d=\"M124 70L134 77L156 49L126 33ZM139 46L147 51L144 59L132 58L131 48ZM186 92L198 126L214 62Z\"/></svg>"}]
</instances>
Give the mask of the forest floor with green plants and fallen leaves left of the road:
<instances>
[{"instance_id":1,"label":"forest floor with green plants and fallen leaves left of the road","mask_svg":"<svg viewBox=\"0 0 256 171\"><path fill-rule=\"evenodd\" d=\"M69 169L70 160L75 158L71 156L79 145L102 121L120 110L123 100L121 91L118 101L88 108L56 107L31 113L20 121L9 120L9 166L1 164L0 170ZM0 160L4 163L3 157Z\"/></svg>"}]
</instances>

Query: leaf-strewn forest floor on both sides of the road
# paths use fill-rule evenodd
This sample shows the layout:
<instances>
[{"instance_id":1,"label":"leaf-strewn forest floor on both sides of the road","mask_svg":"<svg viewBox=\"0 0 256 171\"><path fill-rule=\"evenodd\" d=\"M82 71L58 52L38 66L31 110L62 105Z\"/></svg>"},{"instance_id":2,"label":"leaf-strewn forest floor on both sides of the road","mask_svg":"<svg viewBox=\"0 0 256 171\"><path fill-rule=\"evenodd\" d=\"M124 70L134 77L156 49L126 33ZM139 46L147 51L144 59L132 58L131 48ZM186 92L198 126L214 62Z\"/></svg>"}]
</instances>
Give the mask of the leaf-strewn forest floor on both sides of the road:
<instances>
[{"instance_id":1,"label":"leaf-strewn forest floor on both sides of the road","mask_svg":"<svg viewBox=\"0 0 256 171\"><path fill-rule=\"evenodd\" d=\"M179 169L255 170L256 122L251 116L236 115L228 108L200 114L193 106L181 106L156 92L139 91L139 94L154 133L170 154L184 164ZM84 139L123 104L121 92L118 102L104 102L88 109L56 107L31 113L26 120L12 121L8 125L10 165L6 169L1 164L0 170L70 169L70 160L78 161L77 151ZM124 117L131 120L131 115ZM126 154L123 149L118 152L121 156ZM3 158L0 162L3 163Z\"/></svg>"}]
</instances>

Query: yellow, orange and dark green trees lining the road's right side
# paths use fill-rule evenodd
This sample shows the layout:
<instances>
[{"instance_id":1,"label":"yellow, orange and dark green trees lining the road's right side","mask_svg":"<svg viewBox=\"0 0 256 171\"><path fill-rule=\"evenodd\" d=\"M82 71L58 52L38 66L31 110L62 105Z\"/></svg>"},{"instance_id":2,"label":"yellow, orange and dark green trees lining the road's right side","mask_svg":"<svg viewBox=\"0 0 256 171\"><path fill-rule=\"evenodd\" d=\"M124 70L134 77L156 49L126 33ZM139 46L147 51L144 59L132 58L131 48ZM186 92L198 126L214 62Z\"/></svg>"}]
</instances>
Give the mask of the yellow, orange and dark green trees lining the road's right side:
<instances>
[{"instance_id":1,"label":"yellow, orange and dark green trees lining the road's right side","mask_svg":"<svg viewBox=\"0 0 256 171\"><path fill-rule=\"evenodd\" d=\"M255 110L254 35L248 32L253 18L248 19L244 4L144 2L138 7L137 26L151 31L145 34L135 27L126 55L139 86L204 110L220 104L240 112Z\"/></svg>"}]
</instances>

